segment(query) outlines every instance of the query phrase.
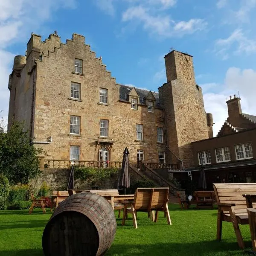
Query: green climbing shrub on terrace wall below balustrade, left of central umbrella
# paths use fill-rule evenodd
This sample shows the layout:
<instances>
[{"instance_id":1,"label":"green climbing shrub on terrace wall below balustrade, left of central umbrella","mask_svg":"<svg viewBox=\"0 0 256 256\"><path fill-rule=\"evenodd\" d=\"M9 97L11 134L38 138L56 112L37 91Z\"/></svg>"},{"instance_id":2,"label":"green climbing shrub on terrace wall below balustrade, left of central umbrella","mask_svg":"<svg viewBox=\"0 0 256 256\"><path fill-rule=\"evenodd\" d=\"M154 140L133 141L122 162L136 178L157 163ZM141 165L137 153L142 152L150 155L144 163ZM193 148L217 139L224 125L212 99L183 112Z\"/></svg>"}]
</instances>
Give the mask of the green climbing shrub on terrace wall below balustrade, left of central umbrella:
<instances>
[{"instance_id":1,"label":"green climbing shrub on terrace wall below balustrade, left of central umbrella","mask_svg":"<svg viewBox=\"0 0 256 256\"><path fill-rule=\"evenodd\" d=\"M120 169L116 167L109 168L93 168L93 167L76 167L75 179L88 180L92 186L96 183L114 177L119 174Z\"/></svg>"}]
</instances>

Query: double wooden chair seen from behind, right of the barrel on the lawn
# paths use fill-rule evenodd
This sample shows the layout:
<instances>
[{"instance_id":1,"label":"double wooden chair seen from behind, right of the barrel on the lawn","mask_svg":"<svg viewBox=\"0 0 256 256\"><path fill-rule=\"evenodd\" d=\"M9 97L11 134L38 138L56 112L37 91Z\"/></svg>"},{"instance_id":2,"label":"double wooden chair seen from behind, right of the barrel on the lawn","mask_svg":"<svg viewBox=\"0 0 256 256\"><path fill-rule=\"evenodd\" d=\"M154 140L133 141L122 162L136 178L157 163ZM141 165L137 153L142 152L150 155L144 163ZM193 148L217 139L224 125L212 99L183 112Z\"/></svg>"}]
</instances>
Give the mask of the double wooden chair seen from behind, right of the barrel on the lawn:
<instances>
[{"instance_id":1,"label":"double wooden chair seen from behind, right of the barrel on the lawn","mask_svg":"<svg viewBox=\"0 0 256 256\"><path fill-rule=\"evenodd\" d=\"M127 215L127 213L132 214L134 227L138 228L136 213L149 213L151 211L156 211L154 222L157 222L158 212L162 211L165 212L167 222L169 225L171 225L172 223L168 209L168 193L169 188L137 188L133 202L123 201L124 213L122 218L122 226L125 224L125 216Z\"/></svg>"}]
</instances>

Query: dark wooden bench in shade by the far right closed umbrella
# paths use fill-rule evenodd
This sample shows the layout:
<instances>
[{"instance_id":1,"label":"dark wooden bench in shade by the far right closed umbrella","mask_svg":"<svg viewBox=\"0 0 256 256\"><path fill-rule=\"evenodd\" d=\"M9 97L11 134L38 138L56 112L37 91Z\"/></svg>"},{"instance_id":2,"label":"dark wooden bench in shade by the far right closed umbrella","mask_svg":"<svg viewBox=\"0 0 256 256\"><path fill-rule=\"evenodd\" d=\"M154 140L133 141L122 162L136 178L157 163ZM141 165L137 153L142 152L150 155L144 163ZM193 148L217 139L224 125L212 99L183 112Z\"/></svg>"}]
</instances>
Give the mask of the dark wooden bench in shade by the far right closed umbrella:
<instances>
[{"instance_id":1,"label":"dark wooden bench in shade by the far right closed umbrella","mask_svg":"<svg viewBox=\"0 0 256 256\"><path fill-rule=\"evenodd\" d=\"M215 203L215 193L213 191L195 191L194 200L191 203L196 204L197 209L213 209Z\"/></svg>"}]
</instances>

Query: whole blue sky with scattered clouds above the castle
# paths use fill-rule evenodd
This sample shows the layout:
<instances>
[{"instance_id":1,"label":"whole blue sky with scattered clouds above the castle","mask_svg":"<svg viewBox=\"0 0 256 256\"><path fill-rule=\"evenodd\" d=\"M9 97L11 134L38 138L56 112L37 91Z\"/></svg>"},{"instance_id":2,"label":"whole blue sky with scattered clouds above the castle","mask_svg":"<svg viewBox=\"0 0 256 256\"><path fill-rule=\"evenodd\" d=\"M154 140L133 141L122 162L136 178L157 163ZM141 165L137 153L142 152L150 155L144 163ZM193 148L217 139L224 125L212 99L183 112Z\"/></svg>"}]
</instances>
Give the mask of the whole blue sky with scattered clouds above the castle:
<instances>
[{"instance_id":1,"label":"whole blue sky with scattered clouds above the castle","mask_svg":"<svg viewBox=\"0 0 256 256\"><path fill-rule=\"evenodd\" d=\"M0 0L0 110L7 119L8 77L31 32L63 42L79 33L102 56L116 81L157 91L166 82L163 56L194 56L215 134L227 118L226 99L241 97L256 114L256 0Z\"/></svg>"}]
</instances>

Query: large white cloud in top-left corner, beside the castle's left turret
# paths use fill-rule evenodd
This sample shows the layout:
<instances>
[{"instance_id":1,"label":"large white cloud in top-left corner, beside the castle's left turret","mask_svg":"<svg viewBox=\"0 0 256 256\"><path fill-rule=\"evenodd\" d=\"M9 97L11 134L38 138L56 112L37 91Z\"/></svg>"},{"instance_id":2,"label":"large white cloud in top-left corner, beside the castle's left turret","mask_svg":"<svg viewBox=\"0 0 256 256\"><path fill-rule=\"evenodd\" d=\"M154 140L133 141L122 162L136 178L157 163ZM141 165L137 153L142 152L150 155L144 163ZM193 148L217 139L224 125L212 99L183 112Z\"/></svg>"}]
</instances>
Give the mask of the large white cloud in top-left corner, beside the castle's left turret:
<instances>
[{"instance_id":1,"label":"large white cloud in top-left corner, beside the castle's left turret","mask_svg":"<svg viewBox=\"0 0 256 256\"><path fill-rule=\"evenodd\" d=\"M31 31L38 29L52 12L60 8L74 9L76 0L44 0L43 6L41 0L0 0L0 110L3 110L1 116L5 120L9 107L8 80L14 58L6 47L15 41L27 41Z\"/></svg>"}]
</instances>

